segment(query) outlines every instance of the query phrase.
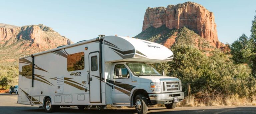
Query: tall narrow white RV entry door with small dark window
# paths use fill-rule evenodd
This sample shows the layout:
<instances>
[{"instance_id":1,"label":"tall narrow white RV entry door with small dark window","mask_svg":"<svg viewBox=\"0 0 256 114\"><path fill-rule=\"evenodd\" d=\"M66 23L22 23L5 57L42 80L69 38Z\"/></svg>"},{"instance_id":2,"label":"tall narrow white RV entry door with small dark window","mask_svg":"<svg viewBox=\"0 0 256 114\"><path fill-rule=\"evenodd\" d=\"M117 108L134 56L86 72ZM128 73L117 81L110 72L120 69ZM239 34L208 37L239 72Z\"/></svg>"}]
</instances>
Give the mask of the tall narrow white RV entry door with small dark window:
<instances>
[{"instance_id":1,"label":"tall narrow white RV entry door with small dark window","mask_svg":"<svg viewBox=\"0 0 256 114\"><path fill-rule=\"evenodd\" d=\"M99 52L89 54L90 103L101 102Z\"/></svg>"}]
</instances>

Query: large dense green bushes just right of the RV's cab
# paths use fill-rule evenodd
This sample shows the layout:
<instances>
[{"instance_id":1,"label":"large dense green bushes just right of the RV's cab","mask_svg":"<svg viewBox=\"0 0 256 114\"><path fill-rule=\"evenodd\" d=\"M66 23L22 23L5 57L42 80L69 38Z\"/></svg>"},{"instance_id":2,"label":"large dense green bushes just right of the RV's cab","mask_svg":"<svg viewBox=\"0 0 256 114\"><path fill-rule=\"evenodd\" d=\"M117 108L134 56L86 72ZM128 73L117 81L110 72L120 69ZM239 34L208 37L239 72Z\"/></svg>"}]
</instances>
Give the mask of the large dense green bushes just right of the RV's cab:
<instances>
[{"instance_id":1,"label":"large dense green bushes just right of the RV's cab","mask_svg":"<svg viewBox=\"0 0 256 114\"><path fill-rule=\"evenodd\" d=\"M171 49L174 59L171 62L158 63L153 66L161 72L165 70L167 76L178 77L187 94L187 83L191 83L191 93L208 91L210 93L254 93L254 78L246 83L250 89L242 92L237 79L246 81L250 77L251 69L245 64L234 64L228 55L214 50L207 57L203 52L190 45L175 45ZM246 81L249 82L249 81ZM233 86L233 84L237 84ZM232 86L232 87L230 87Z\"/></svg>"}]
</instances>

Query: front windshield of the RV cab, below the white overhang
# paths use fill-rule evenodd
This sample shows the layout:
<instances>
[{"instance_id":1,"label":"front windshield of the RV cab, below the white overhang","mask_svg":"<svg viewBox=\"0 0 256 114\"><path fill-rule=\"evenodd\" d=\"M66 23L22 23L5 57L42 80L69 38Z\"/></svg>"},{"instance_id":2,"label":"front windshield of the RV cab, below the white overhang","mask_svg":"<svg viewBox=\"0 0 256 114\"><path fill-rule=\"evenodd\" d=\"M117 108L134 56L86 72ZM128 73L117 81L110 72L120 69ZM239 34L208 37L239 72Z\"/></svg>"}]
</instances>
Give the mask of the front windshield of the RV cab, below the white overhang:
<instances>
[{"instance_id":1,"label":"front windshield of the RV cab, below the white overhang","mask_svg":"<svg viewBox=\"0 0 256 114\"><path fill-rule=\"evenodd\" d=\"M126 63L132 73L136 76L151 76L151 75L160 75L152 66L146 63L140 62L130 62Z\"/></svg>"}]
</instances>

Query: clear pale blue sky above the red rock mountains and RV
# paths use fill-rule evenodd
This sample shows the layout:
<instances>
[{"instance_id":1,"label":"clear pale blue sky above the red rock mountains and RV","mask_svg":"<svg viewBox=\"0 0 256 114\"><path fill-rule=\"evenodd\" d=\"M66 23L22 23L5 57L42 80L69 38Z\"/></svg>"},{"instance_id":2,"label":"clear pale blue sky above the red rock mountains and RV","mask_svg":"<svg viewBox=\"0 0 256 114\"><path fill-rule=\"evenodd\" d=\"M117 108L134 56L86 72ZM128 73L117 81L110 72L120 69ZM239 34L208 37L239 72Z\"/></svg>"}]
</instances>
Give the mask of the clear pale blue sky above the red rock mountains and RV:
<instances>
[{"instance_id":1,"label":"clear pale blue sky above the red rock mountains and RV","mask_svg":"<svg viewBox=\"0 0 256 114\"><path fill-rule=\"evenodd\" d=\"M256 0L190 0L213 12L218 38L233 43L250 36ZM167 7L186 0L0 0L0 23L43 24L73 42L98 35L136 36L148 7Z\"/></svg>"}]
</instances>

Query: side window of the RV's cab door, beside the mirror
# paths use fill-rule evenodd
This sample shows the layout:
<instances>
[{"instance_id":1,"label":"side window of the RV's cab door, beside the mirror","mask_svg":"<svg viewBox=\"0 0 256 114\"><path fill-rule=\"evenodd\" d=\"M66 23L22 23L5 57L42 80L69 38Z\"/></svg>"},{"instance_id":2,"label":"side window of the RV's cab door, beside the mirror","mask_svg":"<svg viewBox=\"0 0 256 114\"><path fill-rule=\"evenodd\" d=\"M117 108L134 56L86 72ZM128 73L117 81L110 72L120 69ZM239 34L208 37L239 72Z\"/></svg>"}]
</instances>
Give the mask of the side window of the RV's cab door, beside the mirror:
<instances>
[{"instance_id":1,"label":"side window of the RV's cab door, beside the mirror","mask_svg":"<svg viewBox=\"0 0 256 114\"><path fill-rule=\"evenodd\" d=\"M117 69L121 69L121 71L122 71L122 75L119 75L119 76L117 76L116 75L116 70ZM128 71L128 69L124 66L124 64L116 64L115 65L115 69L114 69L114 79L121 79L121 78L129 78L130 76L129 76L129 71Z\"/></svg>"}]
</instances>

